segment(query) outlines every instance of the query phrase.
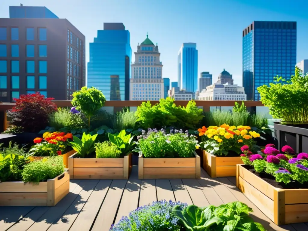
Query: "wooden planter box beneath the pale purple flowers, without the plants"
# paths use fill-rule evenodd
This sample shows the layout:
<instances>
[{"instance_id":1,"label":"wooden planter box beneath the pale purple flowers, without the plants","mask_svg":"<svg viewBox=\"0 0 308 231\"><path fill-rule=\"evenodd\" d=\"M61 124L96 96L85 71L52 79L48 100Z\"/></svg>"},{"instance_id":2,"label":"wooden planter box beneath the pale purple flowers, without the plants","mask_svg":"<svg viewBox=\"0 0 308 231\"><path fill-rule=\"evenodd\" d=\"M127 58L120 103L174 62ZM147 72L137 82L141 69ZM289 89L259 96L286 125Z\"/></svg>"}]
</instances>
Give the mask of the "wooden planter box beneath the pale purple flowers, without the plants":
<instances>
[{"instance_id":1,"label":"wooden planter box beneath the pale purple flowers, without the plants","mask_svg":"<svg viewBox=\"0 0 308 231\"><path fill-rule=\"evenodd\" d=\"M200 179L200 156L189 158L143 158L139 155L139 179Z\"/></svg>"}]
</instances>

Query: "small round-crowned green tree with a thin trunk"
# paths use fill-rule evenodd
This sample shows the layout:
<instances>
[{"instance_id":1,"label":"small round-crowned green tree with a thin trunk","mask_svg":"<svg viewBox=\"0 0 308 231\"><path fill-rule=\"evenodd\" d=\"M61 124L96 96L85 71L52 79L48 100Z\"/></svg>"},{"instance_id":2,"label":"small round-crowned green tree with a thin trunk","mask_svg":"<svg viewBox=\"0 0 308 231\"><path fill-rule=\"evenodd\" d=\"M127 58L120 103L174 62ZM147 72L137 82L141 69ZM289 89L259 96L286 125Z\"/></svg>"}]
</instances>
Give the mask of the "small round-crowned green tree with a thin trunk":
<instances>
[{"instance_id":1,"label":"small round-crowned green tree with a thin trunk","mask_svg":"<svg viewBox=\"0 0 308 231\"><path fill-rule=\"evenodd\" d=\"M82 87L80 91L73 93L72 104L78 111L82 111L87 116L89 128L91 116L103 107L105 102L105 96L95 87Z\"/></svg>"}]
</instances>

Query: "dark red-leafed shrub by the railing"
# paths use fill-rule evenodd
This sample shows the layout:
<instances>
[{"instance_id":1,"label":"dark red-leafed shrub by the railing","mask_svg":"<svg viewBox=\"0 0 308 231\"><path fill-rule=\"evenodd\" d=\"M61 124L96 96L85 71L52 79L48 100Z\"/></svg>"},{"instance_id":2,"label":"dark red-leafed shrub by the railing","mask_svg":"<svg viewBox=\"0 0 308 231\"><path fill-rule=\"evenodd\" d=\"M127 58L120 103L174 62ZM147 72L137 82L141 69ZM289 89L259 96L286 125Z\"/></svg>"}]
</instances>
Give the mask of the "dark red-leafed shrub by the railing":
<instances>
[{"instance_id":1,"label":"dark red-leafed shrub by the railing","mask_svg":"<svg viewBox=\"0 0 308 231\"><path fill-rule=\"evenodd\" d=\"M57 111L57 105L51 101L53 99L46 99L39 92L20 95L19 99L14 99L16 105L7 111L12 118L11 124L22 127L23 132L39 132L48 126L49 115Z\"/></svg>"}]
</instances>

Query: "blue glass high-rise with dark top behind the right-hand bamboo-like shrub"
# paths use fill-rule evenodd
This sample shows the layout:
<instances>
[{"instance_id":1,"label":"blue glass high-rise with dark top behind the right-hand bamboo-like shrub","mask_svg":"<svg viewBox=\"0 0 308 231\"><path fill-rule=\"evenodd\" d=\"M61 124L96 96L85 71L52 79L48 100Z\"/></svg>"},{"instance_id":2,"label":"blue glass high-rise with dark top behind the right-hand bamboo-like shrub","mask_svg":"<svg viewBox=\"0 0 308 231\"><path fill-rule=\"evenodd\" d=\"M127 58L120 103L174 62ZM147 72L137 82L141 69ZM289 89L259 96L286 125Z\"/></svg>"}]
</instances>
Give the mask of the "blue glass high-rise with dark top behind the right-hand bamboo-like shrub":
<instances>
[{"instance_id":1,"label":"blue glass high-rise with dark top behind the right-hand bamboo-like shrub","mask_svg":"<svg viewBox=\"0 0 308 231\"><path fill-rule=\"evenodd\" d=\"M274 76L289 80L296 64L296 22L254 21L243 30L243 87L260 100L257 87Z\"/></svg>"}]
</instances>

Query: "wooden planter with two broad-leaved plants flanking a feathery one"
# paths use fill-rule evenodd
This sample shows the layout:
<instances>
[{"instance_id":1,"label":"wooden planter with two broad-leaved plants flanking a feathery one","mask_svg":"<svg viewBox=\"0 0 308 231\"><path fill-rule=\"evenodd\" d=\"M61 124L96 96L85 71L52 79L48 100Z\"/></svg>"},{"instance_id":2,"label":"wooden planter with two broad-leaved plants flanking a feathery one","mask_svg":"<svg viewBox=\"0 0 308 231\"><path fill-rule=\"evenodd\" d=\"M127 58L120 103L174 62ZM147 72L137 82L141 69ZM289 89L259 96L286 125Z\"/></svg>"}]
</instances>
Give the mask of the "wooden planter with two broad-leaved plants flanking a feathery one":
<instances>
[{"instance_id":1,"label":"wooden planter with two broad-leaved plants flanking a feathery one","mask_svg":"<svg viewBox=\"0 0 308 231\"><path fill-rule=\"evenodd\" d=\"M82 139L73 136L75 154L69 157L71 179L128 179L132 170L132 139L122 130L108 133L110 141L94 143L97 134L83 133Z\"/></svg>"}]
</instances>

